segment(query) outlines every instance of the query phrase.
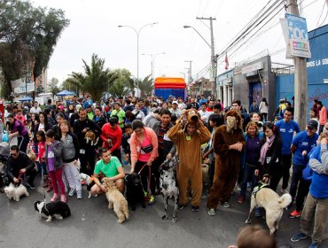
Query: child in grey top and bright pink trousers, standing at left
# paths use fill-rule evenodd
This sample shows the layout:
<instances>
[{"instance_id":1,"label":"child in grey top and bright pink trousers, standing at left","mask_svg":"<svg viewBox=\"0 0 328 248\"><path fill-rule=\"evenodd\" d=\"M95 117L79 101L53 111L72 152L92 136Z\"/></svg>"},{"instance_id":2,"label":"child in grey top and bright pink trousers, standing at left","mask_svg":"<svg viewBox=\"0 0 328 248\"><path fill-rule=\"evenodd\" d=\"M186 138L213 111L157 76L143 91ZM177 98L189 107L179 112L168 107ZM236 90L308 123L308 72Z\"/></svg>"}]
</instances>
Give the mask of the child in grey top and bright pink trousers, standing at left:
<instances>
[{"instance_id":1,"label":"child in grey top and bright pink trousers, standing at left","mask_svg":"<svg viewBox=\"0 0 328 248\"><path fill-rule=\"evenodd\" d=\"M48 165L48 173L51 177L53 196L51 202L59 199L60 188L60 200L66 202L65 185L62 180L63 174L63 160L61 159L63 151L63 143L55 140L55 132L49 129L46 134L46 147L45 147L45 159Z\"/></svg>"}]
</instances>

